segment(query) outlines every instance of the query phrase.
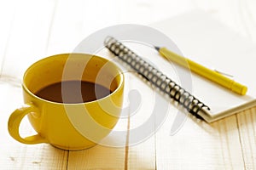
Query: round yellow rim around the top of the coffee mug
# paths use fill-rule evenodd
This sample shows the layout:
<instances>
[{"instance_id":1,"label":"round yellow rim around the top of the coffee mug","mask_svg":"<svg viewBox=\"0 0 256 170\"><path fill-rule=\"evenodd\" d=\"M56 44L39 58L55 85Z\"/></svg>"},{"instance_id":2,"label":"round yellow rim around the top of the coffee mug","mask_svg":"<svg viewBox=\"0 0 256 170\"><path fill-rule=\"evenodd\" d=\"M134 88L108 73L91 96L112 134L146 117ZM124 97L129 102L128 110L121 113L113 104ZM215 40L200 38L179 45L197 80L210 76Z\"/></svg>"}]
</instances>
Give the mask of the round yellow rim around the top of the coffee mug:
<instances>
[{"instance_id":1,"label":"round yellow rim around the top of the coffee mug","mask_svg":"<svg viewBox=\"0 0 256 170\"><path fill-rule=\"evenodd\" d=\"M86 102L79 102L79 103L61 103L61 102L55 102L55 101L51 101L51 100L48 100L48 99L44 99L44 98L40 98L38 97L36 94L32 93L32 91L30 89L27 88L26 86L26 83L25 83L25 78L26 78L26 74L28 73L28 71L30 71L32 69L32 67L34 65L37 65L38 63L44 61L44 60L47 60L49 58L53 58L53 57L60 57L61 55L70 55L70 54L79 54L79 55L90 55L90 56L94 56L96 58L99 58L99 59L102 59L104 61L107 62L110 62L111 65L113 65L115 67L115 69L118 71L119 73L119 77L120 77L120 81L118 83L118 87L115 88L113 90L113 92L111 94L108 94L107 96L104 96L103 98L101 99L95 99L95 100L92 100L92 101L86 101ZM36 99L39 99L39 100L43 100L44 102L47 102L47 103L50 103L50 104L55 104L55 105L84 105L84 104L90 104L90 103L95 103L95 102L99 102L103 99L106 99L108 97L111 97L113 94L116 94L120 88L122 88L122 86L124 85L124 80L125 80L125 76L124 76L124 73L123 71L119 68L118 65L116 65L115 63L113 63L111 60L109 59L106 59L106 58L103 58L101 56L98 56L96 54L85 54L85 53L64 53L64 54L54 54L54 55L50 55L48 57L45 57L43 59L39 59L38 61L32 63L32 65L30 65L26 71L24 72L23 74L23 79L22 79L22 88L26 91L26 93L30 94L33 98L36 98Z\"/></svg>"}]
</instances>

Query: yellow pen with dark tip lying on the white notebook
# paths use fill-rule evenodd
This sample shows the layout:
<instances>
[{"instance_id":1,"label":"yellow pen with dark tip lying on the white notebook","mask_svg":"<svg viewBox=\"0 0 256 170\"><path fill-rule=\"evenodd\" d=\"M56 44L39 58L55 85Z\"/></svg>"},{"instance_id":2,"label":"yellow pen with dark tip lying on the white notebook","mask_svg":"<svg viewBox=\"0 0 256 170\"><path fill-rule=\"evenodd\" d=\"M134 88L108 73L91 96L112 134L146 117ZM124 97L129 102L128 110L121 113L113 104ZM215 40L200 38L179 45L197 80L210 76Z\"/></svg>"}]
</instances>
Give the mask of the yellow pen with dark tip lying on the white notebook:
<instances>
[{"instance_id":1,"label":"yellow pen with dark tip lying on the white notebook","mask_svg":"<svg viewBox=\"0 0 256 170\"><path fill-rule=\"evenodd\" d=\"M217 71L207 69L205 66L195 63L190 59L186 59L178 54L173 53L167 48L154 47L164 58L170 59L172 62L182 65L183 67L190 69L201 77L205 77L212 82L216 82L224 88L228 88L236 94L245 95L247 93L247 87L239 82L235 82L228 77L224 77Z\"/></svg>"}]
</instances>

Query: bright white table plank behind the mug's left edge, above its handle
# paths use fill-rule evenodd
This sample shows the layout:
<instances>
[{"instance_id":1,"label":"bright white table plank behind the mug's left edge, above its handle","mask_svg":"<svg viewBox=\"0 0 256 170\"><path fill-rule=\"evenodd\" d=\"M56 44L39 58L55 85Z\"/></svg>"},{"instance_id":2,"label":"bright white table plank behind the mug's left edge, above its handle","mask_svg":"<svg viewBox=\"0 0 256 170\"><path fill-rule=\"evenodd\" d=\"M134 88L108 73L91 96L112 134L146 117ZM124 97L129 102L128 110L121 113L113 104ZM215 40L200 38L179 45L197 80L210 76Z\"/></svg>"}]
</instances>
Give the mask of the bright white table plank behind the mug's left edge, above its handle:
<instances>
[{"instance_id":1,"label":"bright white table plank behind the mug's left edge, above its handle","mask_svg":"<svg viewBox=\"0 0 256 170\"><path fill-rule=\"evenodd\" d=\"M55 2L17 1L14 8L2 74L22 77L29 65L45 57Z\"/></svg>"}]
</instances>

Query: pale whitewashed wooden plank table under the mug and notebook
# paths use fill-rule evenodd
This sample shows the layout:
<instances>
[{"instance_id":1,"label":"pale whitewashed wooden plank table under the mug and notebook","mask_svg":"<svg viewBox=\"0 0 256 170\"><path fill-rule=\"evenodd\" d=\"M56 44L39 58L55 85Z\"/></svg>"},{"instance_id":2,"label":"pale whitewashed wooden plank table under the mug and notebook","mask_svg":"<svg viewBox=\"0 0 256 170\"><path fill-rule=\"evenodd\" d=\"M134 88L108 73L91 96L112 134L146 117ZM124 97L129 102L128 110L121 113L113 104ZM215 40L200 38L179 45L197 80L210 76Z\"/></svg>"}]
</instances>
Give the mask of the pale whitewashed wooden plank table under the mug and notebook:
<instances>
[{"instance_id":1,"label":"pale whitewashed wooden plank table under the mug and notebook","mask_svg":"<svg viewBox=\"0 0 256 170\"><path fill-rule=\"evenodd\" d=\"M175 115L168 114L160 129L138 144L129 145L126 133L127 146L96 145L79 151L20 144L7 130L10 113L22 105L20 79L26 67L50 54L71 52L98 29L121 23L148 25L200 8L255 42L255 7L253 0L1 1L0 169L256 169L256 108L211 124L189 116L175 135L170 135ZM148 92L143 98L150 102L150 87L129 77L128 91L137 84ZM120 121L118 127L129 132L143 122L143 113L152 108L141 107L141 114ZM27 120L20 132L33 133Z\"/></svg>"}]
</instances>

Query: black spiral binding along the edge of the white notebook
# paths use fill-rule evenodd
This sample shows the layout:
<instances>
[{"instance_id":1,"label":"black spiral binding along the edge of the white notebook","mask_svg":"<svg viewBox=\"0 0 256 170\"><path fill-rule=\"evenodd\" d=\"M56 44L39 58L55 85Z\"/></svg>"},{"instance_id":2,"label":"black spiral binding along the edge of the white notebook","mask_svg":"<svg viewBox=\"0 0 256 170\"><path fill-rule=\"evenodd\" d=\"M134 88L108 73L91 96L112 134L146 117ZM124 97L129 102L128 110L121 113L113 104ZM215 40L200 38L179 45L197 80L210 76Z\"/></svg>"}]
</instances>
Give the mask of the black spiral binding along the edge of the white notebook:
<instances>
[{"instance_id":1,"label":"black spiral binding along the edge of the white notebook","mask_svg":"<svg viewBox=\"0 0 256 170\"><path fill-rule=\"evenodd\" d=\"M119 57L119 59L130 65L132 69L146 78L148 82L154 84L160 91L168 94L170 98L183 105L192 115L202 119L197 114L198 111L201 111L203 107L207 107L207 110L210 110L207 105L204 105L199 99L196 99L192 94L189 94L189 92L177 85L176 82L173 82L162 72L155 69L154 66L149 65L145 60L132 52L131 49L126 48L121 42L118 42L113 37L107 37L104 43L106 48Z\"/></svg>"}]
</instances>

